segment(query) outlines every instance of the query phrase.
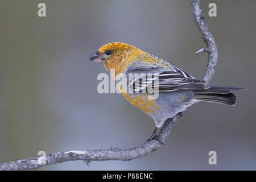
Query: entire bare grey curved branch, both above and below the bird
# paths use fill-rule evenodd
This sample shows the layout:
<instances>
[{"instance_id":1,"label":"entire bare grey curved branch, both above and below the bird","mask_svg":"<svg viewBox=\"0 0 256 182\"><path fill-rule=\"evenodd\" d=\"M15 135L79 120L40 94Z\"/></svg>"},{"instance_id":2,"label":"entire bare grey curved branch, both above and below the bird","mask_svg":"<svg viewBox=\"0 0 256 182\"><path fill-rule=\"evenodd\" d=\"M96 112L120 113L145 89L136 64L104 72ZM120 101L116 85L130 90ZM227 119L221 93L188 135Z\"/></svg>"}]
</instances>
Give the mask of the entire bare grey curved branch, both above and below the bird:
<instances>
[{"instance_id":1,"label":"entire bare grey curved branch, both above and below the bird","mask_svg":"<svg viewBox=\"0 0 256 182\"><path fill-rule=\"evenodd\" d=\"M201 34L203 35L202 38L204 39L204 42L207 44L208 64L203 79L207 81L207 83L209 83L209 81L213 77L214 69L217 64L217 47L214 43L212 34L210 34L208 27L204 22L204 15L201 13L199 0L192 0L191 4L193 10L193 18ZM91 161L132 160L140 158L163 146L163 143L166 142L172 131L172 127L175 125L177 119L180 117L181 114L177 114L174 118L168 119L164 123L164 126L162 127L156 139L150 140L135 148L119 149L115 147L110 147L109 149L100 150L58 152L46 155L45 160L41 156L35 158L27 158L23 160L16 160L14 162L0 163L0 170L37 169L43 166L47 166L49 164L63 163L71 160L84 160L88 164Z\"/></svg>"}]
</instances>

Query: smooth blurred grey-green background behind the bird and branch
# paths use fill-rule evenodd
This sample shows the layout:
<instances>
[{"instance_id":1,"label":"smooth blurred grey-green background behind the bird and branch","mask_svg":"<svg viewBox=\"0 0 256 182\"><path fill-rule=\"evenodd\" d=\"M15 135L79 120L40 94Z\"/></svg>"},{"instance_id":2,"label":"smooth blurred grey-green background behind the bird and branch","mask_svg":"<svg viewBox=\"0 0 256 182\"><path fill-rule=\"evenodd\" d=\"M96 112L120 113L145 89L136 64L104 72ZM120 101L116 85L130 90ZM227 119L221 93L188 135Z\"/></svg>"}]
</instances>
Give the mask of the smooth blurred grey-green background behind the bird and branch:
<instances>
[{"instance_id":1,"label":"smooth blurred grey-green background behind the bird and branch","mask_svg":"<svg viewBox=\"0 0 256 182\"><path fill-rule=\"evenodd\" d=\"M46 17L38 17L38 3ZM208 16L215 2L217 17ZM218 48L211 85L241 86L234 107L194 105L166 144L129 162L67 162L44 170L256 169L256 1L201 1ZM201 78L207 53L190 1L0 2L0 162L59 151L138 146L154 121L121 94L99 94L101 64L89 56L110 42L132 44ZM108 73L109 74L109 73ZM209 165L208 152L217 152Z\"/></svg>"}]
</instances>

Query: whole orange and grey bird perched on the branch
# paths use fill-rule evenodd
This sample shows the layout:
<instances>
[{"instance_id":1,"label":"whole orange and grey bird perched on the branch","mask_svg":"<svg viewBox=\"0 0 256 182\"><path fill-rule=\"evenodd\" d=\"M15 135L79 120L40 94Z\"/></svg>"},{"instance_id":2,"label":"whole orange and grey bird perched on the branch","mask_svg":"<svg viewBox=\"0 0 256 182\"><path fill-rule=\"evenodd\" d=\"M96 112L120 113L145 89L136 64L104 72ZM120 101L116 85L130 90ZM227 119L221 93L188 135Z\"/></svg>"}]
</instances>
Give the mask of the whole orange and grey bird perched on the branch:
<instances>
[{"instance_id":1,"label":"whole orange and grey bird perched on the branch","mask_svg":"<svg viewBox=\"0 0 256 182\"><path fill-rule=\"evenodd\" d=\"M102 63L114 78L120 74L128 77L129 92L120 88L121 93L126 100L155 122L155 129L148 140L156 139L157 129L162 127L168 118L183 113L193 104L207 101L233 106L236 104L236 96L232 90L247 89L207 86L206 81L196 79L168 61L121 42L105 44L94 52L89 60ZM136 73L137 77L129 77L130 74ZM149 74L151 77L147 77ZM154 89L158 97L149 99L148 96L153 93L150 93L148 88L152 90L154 81L158 82Z\"/></svg>"}]
</instances>

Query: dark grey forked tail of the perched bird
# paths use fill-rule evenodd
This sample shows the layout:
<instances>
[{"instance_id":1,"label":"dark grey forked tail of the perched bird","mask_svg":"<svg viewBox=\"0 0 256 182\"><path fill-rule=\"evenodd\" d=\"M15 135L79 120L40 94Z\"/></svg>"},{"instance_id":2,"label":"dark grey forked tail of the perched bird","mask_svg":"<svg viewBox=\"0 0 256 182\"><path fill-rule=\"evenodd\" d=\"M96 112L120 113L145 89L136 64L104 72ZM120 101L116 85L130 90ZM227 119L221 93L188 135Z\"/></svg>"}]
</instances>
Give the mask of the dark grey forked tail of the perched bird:
<instances>
[{"instance_id":1,"label":"dark grey forked tail of the perched bird","mask_svg":"<svg viewBox=\"0 0 256 182\"><path fill-rule=\"evenodd\" d=\"M194 96L196 100L217 102L225 105L235 105L236 96L231 93L232 90L246 90L247 88L209 86L204 90L195 90Z\"/></svg>"}]
</instances>

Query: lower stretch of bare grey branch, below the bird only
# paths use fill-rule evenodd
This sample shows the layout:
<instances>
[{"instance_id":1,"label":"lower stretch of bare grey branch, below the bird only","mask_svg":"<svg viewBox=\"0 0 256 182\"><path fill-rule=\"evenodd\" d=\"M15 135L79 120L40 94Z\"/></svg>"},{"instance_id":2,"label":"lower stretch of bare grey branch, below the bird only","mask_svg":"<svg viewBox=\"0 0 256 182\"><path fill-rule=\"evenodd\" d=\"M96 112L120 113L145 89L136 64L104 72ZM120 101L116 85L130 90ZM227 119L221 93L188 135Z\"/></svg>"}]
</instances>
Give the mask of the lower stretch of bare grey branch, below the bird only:
<instances>
[{"instance_id":1,"label":"lower stretch of bare grey branch, below the bird only","mask_svg":"<svg viewBox=\"0 0 256 182\"><path fill-rule=\"evenodd\" d=\"M68 151L58 152L45 156L45 160L41 157L28 158L23 160L17 160L14 162L0 163L0 170L27 170L37 169L39 167L47 166L49 164L57 164L68 162L71 160L84 160L87 164L91 161L102 160L132 160L140 158L157 148L161 147L168 139L171 133L172 126L175 125L179 115L176 115L173 119L168 119L164 124L158 139L150 140L143 143L141 146L130 149L119 149L110 147L109 149L100 150L80 150L80 151ZM43 163L45 161L45 163Z\"/></svg>"}]
</instances>

